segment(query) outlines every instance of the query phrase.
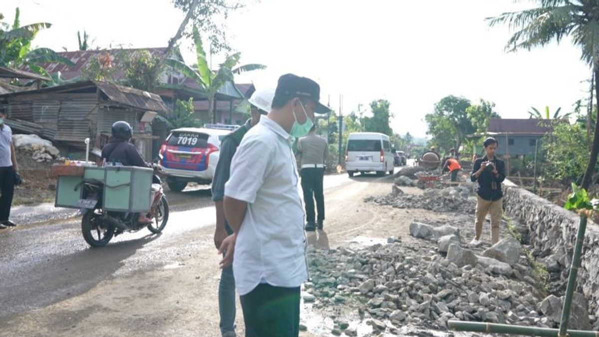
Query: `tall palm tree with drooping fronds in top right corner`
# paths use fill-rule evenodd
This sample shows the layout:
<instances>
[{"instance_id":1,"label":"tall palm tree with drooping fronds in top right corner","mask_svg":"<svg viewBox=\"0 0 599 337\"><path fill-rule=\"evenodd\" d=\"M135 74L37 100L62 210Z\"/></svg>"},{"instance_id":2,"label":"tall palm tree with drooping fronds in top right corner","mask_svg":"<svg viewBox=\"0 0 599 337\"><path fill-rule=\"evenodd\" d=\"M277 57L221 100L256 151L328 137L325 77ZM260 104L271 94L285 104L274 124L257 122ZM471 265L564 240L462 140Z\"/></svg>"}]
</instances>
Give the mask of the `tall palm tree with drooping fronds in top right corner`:
<instances>
[{"instance_id":1,"label":"tall palm tree with drooping fronds in top right corner","mask_svg":"<svg viewBox=\"0 0 599 337\"><path fill-rule=\"evenodd\" d=\"M539 7L519 12L503 13L488 18L490 26L507 24L516 32L507 41L506 50L530 50L552 41L558 43L571 37L580 48L582 61L591 67L599 97L599 0L537 0ZM595 123L591 156L582 188L588 189L599 152L599 119Z\"/></svg>"}]
</instances>

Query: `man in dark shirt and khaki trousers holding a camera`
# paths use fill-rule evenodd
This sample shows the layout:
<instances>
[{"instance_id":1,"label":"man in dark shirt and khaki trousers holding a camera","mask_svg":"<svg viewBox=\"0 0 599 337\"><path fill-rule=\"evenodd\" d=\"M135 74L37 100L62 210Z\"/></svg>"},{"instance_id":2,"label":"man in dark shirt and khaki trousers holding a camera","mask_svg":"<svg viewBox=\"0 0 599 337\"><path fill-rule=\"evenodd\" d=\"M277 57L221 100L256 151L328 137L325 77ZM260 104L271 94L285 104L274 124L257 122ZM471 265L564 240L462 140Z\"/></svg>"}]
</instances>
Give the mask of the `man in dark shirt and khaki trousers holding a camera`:
<instances>
[{"instance_id":1,"label":"man in dark shirt and khaki trousers holding a camera","mask_svg":"<svg viewBox=\"0 0 599 337\"><path fill-rule=\"evenodd\" d=\"M503 160L495 157L497 140L493 137L485 139L486 156L474 161L470 180L479 183L476 203L476 236L470 242L471 246L480 245L483 222L487 213L491 214L491 244L499 242L499 230L503 217L503 190L501 182L506 179L506 166Z\"/></svg>"}]
</instances>

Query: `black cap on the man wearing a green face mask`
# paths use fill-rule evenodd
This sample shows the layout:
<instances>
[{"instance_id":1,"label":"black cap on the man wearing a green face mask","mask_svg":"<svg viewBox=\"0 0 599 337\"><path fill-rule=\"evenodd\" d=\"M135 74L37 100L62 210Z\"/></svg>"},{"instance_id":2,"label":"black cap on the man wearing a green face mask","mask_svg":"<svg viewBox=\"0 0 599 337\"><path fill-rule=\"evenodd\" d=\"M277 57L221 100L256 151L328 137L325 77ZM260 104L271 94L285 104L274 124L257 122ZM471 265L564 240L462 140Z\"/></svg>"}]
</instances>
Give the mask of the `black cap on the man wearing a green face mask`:
<instances>
[{"instance_id":1,"label":"black cap on the man wearing a green face mask","mask_svg":"<svg viewBox=\"0 0 599 337\"><path fill-rule=\"evenodd\" d=\"M328 107L320 104L320 86L307 77L299 77L294 74L285 74L279 77L275 97L301 97L308 98L316 102L316 113L328 113L331 111Z\"/></svg>"}]
</instances>

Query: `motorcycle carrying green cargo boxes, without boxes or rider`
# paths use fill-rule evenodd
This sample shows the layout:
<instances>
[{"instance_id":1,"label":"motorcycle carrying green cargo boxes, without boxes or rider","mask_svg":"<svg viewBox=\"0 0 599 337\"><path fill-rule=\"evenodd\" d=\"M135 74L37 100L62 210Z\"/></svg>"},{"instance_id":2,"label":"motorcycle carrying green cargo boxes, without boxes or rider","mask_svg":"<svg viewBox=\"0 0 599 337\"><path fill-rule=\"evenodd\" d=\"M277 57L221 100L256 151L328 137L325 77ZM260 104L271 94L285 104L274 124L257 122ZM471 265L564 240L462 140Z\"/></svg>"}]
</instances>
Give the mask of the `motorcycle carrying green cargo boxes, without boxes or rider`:
<instances>
[{"instance_id":1,"label":"motorcycle carrying green cargo boxes, without boxes or rider","mask_svg":"<svg viewBox=\"0 0 599 337\"><path fill-rule=\"evenodd\" d=\"M168 200L162 189L162 181L158 176L158 167L153 166L152 202L147 217L152 219L150 224L138 222L138 213L111 212L102 209L102 191L104 183L96 179L85 179L82 182L83 199L86 204L81 212L81 232L83 239L92 247L102 247L114 237L122 233L134 233L148 228L152 233L158 234L164 229L168 221Z\"/></svg>"}]
</instances>

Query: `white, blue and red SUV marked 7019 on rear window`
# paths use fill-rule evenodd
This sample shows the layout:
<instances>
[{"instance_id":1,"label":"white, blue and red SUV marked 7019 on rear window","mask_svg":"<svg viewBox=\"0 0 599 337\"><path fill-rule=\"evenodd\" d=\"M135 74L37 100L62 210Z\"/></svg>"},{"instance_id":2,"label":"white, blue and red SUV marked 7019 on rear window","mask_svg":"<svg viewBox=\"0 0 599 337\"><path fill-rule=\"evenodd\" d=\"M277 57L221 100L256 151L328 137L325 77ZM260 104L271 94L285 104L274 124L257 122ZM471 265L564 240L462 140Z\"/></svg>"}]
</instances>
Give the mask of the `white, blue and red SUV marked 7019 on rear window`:
<instances>
[{"instance_id":1,"label":"white, blue and red SUV marked 7019 on rear window","mask_svg":"<svg viewBox=\"0 0 599 337\"><path fill-rule=\"evenodd\" d=\"M219 162L220 142L238 127L205 124L172 130L162 143L158 163L171 191L183 191L189 182L210 184Z\"/></svg>"}]
</instances>

